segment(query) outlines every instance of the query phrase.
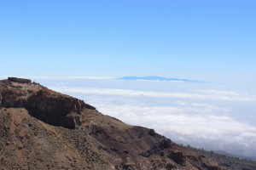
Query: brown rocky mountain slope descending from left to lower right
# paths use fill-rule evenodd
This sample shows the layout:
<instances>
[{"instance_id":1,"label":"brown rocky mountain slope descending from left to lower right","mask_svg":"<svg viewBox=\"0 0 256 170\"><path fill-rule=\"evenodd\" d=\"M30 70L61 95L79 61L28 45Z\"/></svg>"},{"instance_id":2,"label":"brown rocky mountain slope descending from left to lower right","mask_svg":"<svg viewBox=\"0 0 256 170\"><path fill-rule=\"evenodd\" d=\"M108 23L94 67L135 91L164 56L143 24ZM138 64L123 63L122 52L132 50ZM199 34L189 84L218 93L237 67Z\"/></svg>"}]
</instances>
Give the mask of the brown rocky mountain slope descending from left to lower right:
<instances>
[{"instance_id":1,"label":"brown rocky mountain slope descending from left to lower right","mask_svg":"<svg viewBox=\"0 0 256 170\"><path fill-rule=\"evenodd\" d=\"M0 169L210 169L153 129L102 115L27 79L0 81Z\"/></svg>"}]
</instances>

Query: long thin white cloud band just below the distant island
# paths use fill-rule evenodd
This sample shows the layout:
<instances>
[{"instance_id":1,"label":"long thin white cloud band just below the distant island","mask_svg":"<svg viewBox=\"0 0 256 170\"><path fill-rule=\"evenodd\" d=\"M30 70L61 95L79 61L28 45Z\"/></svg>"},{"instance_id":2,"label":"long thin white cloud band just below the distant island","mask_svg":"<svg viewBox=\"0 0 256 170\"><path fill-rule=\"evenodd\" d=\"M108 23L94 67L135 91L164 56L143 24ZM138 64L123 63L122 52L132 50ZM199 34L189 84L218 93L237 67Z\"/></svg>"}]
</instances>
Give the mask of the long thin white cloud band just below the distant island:
<instances>
[{"instance_id":1,"label":"long thin white cloud band just below the distant island","mask_svg":"<svg viewBox=\"0 0 256 170\"><path fill-rule=\"evenodd\" d=\"M194 90L190 93L165 93L153 91L137 91L112 88L57 88L65 93L118 95L118 96L146 96L155 98L179 98L179 99L216 99L227 101L256 101L256 96L250 94L238 94L234 91Z\"/></svg>"}]
</instances>

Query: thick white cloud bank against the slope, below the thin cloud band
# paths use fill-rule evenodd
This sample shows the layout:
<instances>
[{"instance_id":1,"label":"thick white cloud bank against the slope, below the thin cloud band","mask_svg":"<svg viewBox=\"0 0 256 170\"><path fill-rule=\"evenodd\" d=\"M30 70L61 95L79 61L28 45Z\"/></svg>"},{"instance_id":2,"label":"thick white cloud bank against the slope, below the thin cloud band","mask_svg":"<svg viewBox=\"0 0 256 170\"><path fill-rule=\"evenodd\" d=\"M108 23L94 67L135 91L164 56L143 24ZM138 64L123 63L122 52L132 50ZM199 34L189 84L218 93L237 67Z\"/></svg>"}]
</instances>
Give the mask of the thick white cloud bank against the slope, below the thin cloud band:
<instances>
[{"instance_id":1,"label":"thick white cloud bank against the slope, below the thin cloud band","mask_svg":"<svg viewBox=\"0 0 256 170\"><path fill-rule=\"evenodd\" d=\"M94 103L104 114L117 117L133 125L154 128L179 143L225 150L237 155L255 156L256 127L239 122L229 112L215 105L177 105L151 107L150 105L111 105ZM235 148L230 148L233 145ZM239 147L239 148L238 148ZM237 152L238 149L243 150Z\"/></svg>"}]
</instances>

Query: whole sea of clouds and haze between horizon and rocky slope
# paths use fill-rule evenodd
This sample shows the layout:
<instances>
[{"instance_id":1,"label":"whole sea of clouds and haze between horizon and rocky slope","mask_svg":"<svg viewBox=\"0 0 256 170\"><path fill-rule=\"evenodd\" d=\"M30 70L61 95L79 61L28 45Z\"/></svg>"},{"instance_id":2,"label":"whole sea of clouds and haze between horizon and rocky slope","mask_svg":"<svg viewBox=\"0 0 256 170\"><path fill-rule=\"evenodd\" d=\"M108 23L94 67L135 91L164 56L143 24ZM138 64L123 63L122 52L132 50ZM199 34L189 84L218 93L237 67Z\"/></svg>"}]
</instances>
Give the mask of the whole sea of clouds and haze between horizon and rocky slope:
<instances>
[{"instance_id":1,"label":"whole sea of clouds and haze between horizon and rocky slope","mask_svg":"<svg viewBox=\"0 0 256 170\"><path fill-rule=\"evenodd\" d=\"M114 79L38 80L122 122L179 144L256 156L256 96L212 84Z\"/></svg>"}]
</instances>

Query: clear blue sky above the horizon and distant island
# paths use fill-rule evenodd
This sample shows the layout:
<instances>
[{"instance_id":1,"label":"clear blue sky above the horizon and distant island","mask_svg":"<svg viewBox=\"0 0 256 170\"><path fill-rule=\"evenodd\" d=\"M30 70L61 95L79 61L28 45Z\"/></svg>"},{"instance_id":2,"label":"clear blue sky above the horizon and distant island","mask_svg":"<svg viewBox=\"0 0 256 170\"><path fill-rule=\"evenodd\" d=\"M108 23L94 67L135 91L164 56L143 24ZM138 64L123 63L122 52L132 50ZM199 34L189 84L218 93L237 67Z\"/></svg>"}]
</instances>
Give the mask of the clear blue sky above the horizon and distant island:
<instances>
[{"instance_id":1,"label":"clear blue sky above the horizon and distant island","mask_svg":"<svg viewBox=\"0 0 256 170\"><path fill-rule=\"evenodd\" d=\"M0 74L253 82L255 6L253 0L0 0Z\"/></svg>"}]
</instances>

